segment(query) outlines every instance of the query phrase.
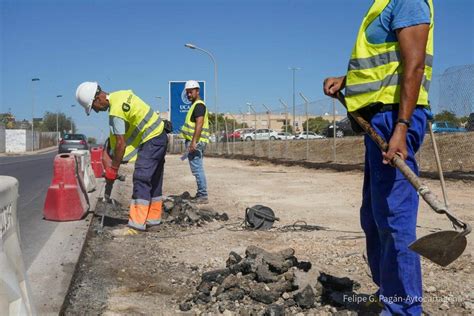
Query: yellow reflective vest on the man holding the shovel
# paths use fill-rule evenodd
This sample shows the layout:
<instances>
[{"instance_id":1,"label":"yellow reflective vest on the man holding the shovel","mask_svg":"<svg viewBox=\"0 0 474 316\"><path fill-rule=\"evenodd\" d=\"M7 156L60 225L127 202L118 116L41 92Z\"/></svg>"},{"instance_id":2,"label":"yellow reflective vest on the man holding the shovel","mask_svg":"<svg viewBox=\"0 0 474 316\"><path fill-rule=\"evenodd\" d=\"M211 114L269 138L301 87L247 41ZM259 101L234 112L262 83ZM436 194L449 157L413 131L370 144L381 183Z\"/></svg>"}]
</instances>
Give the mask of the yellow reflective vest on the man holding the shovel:
<instances>
[{"instance_id":1,"label":"yellow reflective vest on the man holding the shovel","mask_svg":"<svg viewBox=\"0 0 474 316\"><path fill-rule=\"evenodd\" d=\"M346 103L349 112L373 103L400 103L403 73L400 45L397 42L371 44L365 31L379 17L390 0L375 0L367 12L352 50L346 77ZM433 65L433 1L428 0L431 22L426 44L425 71L417 104L428 106L428 90Z\"/></svg>"}]
</instances>

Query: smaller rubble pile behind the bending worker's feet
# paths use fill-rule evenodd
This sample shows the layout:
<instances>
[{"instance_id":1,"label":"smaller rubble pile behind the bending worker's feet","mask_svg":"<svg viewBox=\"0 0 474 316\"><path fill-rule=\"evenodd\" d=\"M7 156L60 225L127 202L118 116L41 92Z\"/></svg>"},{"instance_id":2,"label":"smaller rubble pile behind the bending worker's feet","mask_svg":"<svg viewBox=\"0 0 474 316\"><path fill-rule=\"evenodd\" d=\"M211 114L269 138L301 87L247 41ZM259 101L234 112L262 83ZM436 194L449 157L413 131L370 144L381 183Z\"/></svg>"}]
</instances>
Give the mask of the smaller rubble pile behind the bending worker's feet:
<instances>
[{"instance_id":1,"label":"smaller rubble pile behind the bending worker's feet","mask_svg":"<svg viewBox=\"0 0 474 316\"><path fill-rule=\"evenodd\" d=\"M191 202L191 195L171 195L163 201L163 220L180 226L202 226L206 222L227 221L226 213L219 213L210 207L198 207Z\"/></svg>"}]
</instances>

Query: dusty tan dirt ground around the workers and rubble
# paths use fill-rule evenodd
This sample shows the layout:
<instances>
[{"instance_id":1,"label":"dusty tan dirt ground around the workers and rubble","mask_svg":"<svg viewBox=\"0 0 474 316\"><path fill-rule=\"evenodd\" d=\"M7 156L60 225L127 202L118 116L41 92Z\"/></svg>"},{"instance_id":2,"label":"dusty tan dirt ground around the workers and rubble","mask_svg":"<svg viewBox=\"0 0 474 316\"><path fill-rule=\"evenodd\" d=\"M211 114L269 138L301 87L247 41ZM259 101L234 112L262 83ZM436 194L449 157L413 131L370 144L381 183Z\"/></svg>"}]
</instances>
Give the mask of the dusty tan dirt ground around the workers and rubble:
<instances>
[{"instance_id":1,"label":"dusty tan dirt ground around the workers and rubble","mask_svg":"<svg viewBox=\"0 0 474 316\"><path fill-rule=\"evenodd\" d=\"M243 254L255 245L268 251L294 248L299 260L310 261L320 271L349 277L361 284L360 293L376 291L363 254L365 239L359 225L362 173L284 167L261 162L206 158L210 206L226 212L227 222L183 228L164 224L133 237L112 237L111 229L123 227L122 219L107 219L103 234L97 234L97 218L89 233L84 255L65 302L64 314L84 315L174 315L189 297L200 274L225 267L230 251ZM124 168L126 182L118 188L118 200L126 208L131 195L133 166ZM169 155L164 194L189 191L195 180L187 161ZM439 194L437 181L427 181ZM473 222L473 183L448 181L451 209ZM241 227L245 208L265 204L280 218L270 231ZM450 229L449 221L421 202L418 235ZM120 217L120 216L119 216ZM318 231L285 231L284 225L305 221L327 227ZM446 268L424 260L426 314L471 314L474 308L473 235L468 248ZM193 309L187 314L199 314ZM319 304L305 314L341 314Z\"/></svg>"}]
</instances>

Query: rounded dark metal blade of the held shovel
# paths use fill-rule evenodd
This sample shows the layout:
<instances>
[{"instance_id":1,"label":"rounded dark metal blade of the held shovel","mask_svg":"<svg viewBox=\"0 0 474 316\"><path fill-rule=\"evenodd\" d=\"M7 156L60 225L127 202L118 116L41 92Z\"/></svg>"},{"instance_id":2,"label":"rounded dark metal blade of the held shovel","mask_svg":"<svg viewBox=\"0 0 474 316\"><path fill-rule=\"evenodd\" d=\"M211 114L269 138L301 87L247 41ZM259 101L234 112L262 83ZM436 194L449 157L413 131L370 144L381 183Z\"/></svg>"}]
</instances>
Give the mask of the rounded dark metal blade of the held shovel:
<instances>
[{"instance_id":1,"label":"rounded dark metal blade of the held shovel","mask_svg":"<svg viewBox=\"0 0 474 316\"><path fill-rule=\"evenodd\" d=\"M466 237L456 231L441 231L421 237L408 247L414 252L446 267L466 249Z\"/></svg>"}]
</instances>

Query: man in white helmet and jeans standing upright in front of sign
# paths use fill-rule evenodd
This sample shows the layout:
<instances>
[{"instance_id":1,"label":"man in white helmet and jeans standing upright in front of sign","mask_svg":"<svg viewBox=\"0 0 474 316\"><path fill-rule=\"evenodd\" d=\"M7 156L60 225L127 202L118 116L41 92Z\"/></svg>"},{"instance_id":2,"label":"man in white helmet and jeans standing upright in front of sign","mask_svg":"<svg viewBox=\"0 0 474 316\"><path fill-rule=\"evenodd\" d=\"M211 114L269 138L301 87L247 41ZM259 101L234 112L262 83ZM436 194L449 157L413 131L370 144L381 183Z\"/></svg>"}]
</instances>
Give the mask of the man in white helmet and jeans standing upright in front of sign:
<instances>
[{"instance_id":1,"label":"man in white helmet and jeans standing upright in front of sign","mask_svg":"<svg viewBox=\"0 0 474 316\"><path fill-rule=\"evenodd\" d=\"M204 101L199 96L199 83L195 80L186 82L186 96L192 102L181 128L181 136L186 140L189 166L196 177L197 193L192 199L197 204L207 204L207 182L204 173L204 150L209 143L209 114Z\"/></svg>"}]
</instances>

